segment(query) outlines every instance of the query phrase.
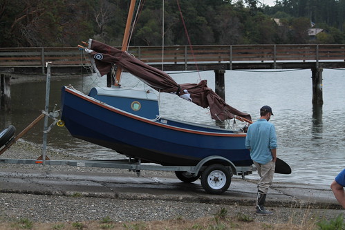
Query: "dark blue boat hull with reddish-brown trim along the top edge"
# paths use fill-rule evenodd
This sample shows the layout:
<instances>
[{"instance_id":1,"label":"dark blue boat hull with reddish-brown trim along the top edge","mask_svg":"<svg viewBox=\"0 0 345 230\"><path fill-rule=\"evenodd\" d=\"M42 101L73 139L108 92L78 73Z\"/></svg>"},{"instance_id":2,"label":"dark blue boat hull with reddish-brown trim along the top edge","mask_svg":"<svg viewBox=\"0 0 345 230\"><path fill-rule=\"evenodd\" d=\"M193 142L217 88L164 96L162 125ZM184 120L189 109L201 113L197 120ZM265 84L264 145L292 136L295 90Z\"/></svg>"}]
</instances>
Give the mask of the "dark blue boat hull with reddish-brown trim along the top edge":
<instances>
[{"instance_id":1,"label":"dark blue boat hull with reddish-brown trim along the top edge","mask_svg":"<svg viewBox=\"0 0 345 230\"><path fill-rule=\"evenodd\" d=\"M114 149L144 162L194 166L205 157L218 155L236 166L250 166L245 133L222 128L127 113L62 88L62 120L74 137Z\"/></svg>"}]
</instances>

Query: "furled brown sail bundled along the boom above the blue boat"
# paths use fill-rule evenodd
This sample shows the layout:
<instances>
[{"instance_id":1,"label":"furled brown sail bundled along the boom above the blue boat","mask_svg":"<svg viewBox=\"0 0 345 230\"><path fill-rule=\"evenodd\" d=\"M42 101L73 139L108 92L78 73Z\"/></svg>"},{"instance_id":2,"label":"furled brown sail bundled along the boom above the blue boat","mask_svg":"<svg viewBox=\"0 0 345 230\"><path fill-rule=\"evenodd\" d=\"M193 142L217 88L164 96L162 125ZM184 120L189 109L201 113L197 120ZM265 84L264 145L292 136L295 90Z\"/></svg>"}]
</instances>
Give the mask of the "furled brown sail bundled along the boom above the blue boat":
<instances>
[{"instance_id":1,"label":"furled brown sail bundled along the boom above the blue boat","mask_svg":"<svg viewBox=\"0 0 345 230\"><path fill-rule=\"evenodd\" d=\"M155 90L176 93L180 97L190 94L192 102L203 108L209 107L212 119L224 121L225 119L232 119L236 115L252 120L248 113L242 113L226 104L219 95L207 87L206 80L198 84L177 84L167 73L144 64L127 52L93 39L89 39L88 49L85 50L90 55L91 63L100 77L109 73L112 64L115 64Z\"/></svg>"}]
</instances>

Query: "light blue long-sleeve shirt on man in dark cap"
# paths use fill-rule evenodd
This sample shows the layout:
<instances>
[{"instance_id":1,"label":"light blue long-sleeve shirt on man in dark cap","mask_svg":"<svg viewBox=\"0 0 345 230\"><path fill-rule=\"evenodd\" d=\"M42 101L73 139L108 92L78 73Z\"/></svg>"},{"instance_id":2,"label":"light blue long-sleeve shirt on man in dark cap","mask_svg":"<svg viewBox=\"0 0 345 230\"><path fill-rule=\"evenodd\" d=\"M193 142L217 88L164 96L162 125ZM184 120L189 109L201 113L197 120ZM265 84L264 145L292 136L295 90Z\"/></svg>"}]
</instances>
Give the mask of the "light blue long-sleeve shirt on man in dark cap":
<instances>
[{"instance_id":1,"label":"light blue long-sleeve shirt on man in dark cap","mask_svg":"<svg viewBox=\"0 0 345 230\"><path fill-rule=\"evenodd\" d=\"M259 164L272 160L271 149L277 148L277 135L274 124L266 119L258 119L251 124L245 137L245 148L250 149L250 157Z\"/></svg>"}]
</instances>

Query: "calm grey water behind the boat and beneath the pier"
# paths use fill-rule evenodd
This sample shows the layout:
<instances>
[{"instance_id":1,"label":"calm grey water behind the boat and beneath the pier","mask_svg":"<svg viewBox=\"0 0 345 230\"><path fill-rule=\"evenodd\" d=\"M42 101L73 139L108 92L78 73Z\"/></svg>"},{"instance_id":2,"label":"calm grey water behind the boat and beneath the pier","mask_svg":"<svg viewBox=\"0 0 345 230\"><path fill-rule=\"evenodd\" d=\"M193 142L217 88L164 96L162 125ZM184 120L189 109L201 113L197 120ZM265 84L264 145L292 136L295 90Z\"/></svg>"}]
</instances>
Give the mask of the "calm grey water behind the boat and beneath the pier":
<instances>
[{"instance_id":1,"label":"calm grey water behind the boat and beneath the pier","mask_svg":"<svg viewBox=\"0 0 345 230\"><path fill-rule=\"evenodd\" d=\"M214 88L214 72L174 73L171 77L178 83L196 83L207 79ZM267 104L272 107L278 136L278 156L292 167L291 175L276 174L277 182L304 182L330 184L335 175L345 166L345 70L323 72L324 105L313 108L310 70L293 71L230 71L225 74L226 101L240 111L259 118L259 108ZM59 108L60 89L72 84L88 93L92 86L105 86L106 79L80 77L79 79L53 81L50 88L50 109ZM124 74L122 86L142 87L135 77ZM1 113L0 127L13 124L17 133L23 130L44 109L46 83L12 85L12 111ZM214 124L208 110L194 106L176 95L160 94L161 115L191 122ZM51 121L50 121L51 122ZM43 122L39 123L24 140L41 144ZM109 159L117 155L114 151L69 135L66 128L55 126L48 133L48 148L68 151L74 155L87 155L93 159ZM15 158L15 156L13 156ZM117 155L122 157L122 155ZM66 159L68 160L68 159ZM250 178L257 178L257 174Z\"/></svg>"}]
</instances>

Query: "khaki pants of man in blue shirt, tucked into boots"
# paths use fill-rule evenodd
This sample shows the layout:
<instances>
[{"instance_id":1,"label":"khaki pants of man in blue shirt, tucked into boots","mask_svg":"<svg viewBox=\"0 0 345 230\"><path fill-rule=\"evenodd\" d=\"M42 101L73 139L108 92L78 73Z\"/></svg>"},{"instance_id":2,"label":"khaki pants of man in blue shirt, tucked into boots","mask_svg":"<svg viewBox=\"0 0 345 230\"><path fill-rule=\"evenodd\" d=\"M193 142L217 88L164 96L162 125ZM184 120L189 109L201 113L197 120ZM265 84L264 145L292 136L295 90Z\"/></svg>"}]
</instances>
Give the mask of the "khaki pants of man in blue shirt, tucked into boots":
<instances>
[{"instance_id":1,"label":"khaki pants of man in blue shirt, tucked into boots","mask_svg":"<svg viewBox=\"0 0 345 230\"><path fill-rule=\"evenodd\" d=\"M259 164L258 162L254 162L254 164L257 166L257 171L261 178L258 183L258 191L267 194L272 184L276 164L272 160L267 164Z\"/></svg>"}]
</instances>

